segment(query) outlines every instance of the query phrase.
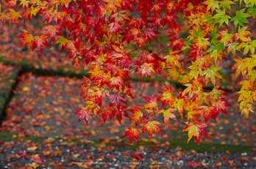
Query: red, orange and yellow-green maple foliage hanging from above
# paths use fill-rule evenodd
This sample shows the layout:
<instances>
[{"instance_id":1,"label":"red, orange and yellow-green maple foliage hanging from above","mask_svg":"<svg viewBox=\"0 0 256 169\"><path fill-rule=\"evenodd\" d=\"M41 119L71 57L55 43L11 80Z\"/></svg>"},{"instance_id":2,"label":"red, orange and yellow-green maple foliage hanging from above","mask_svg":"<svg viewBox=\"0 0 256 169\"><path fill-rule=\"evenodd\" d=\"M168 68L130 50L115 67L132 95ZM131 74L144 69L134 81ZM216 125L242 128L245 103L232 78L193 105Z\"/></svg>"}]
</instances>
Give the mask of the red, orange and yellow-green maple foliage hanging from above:
<instances>
[{"instance_id":1,"label":"red, orange and yellow-green maple foliage hanging from above","mask_svg":"<svg viewBox=\"0 0 256 169\"><path fill-rule=\"evenodd\" d=\"M85 106L77 110L79 121L86 123L91 116L107 116L121 123L123 117L135 121L134 127L128 127L124 136L129 141L139 140L139 133L153 132L160 135L160 121L156 116L163 116L163 125L170 125L170 119L182 117L187 124L183 131L188 131L188 140L193 136L199 144L200 135L208 138L203 127L212 118L216 121L218 113L227 114L225 92L216 85L216 79L222 79L216 64L230 52L236 51L251 56L242 59L235 57L232 67L235 76L240 73L241 113L246 116L252 111L256 100L254 82L256 72L256 41L251 39L251 32L246 31L247 18L256 15L255 0L6 0L7 7L0 11L1 23L7 18L17 26L21 19L31 21L41 17L46 25L45 33L32 34L26 30L18 37L21 46L30 49L50 47L51 42L69 53L72 64L85 61L90 65L90 77L85 82L80 97L86 100ZM3 2L1 2L3 4ZM232 5L239 4L235 17L230 15ZM180 22L185 20L185 23ZM234 31L229 31L232 26ZM182 29L187 29L182 36ZM64 36L63 32L67 35ZM146 45L158 41L158 36L166 32L170 45L156 53L146 50ZM51 41L49 43L49 41ZM135 50L129 45L135 44ZM163 54L166 50L168 53ZM135 59L139 57L140 59ZM177 80L186 88L179 95L173 94L172 86L164 86L163 91L144 97L146 104L141 108L127 108L128 98L133 98L135 86L132 76L151 80L152 75L166 75ZM211 91L204 89L212 83ZM130 112L132 115L129 116ZM205 119L205 122L201 122ZM141 129L138 125L143 124Z\"/></svg>"}]
</instances>

